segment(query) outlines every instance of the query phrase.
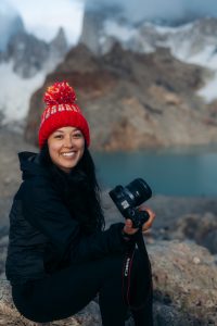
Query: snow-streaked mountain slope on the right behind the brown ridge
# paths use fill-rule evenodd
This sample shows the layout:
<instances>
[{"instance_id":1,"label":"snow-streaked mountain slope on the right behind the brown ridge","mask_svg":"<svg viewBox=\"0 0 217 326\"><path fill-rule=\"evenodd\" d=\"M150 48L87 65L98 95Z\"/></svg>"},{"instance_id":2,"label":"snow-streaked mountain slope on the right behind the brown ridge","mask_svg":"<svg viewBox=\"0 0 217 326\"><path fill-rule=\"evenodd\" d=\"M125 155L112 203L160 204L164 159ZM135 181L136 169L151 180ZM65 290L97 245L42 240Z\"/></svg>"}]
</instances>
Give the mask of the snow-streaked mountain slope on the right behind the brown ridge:
<instances>
[{"instance_id":1,"label":"snow-streaked mountain slope on the right behind the brown ridge","mask_svg":"<svg viewBox=\"0 0 217 326\"><path fill-rule=\"evenodd\" d=\"M201 18L182 26L159 26L150 22L132 24L122 17L86 12L80 42L97 55L108 52L118 41L124 49L149 53L157 47L187 63L208 67L213 74L199 93L207 102L217 98L217 18Z\"/></svg>"}]
</instances>

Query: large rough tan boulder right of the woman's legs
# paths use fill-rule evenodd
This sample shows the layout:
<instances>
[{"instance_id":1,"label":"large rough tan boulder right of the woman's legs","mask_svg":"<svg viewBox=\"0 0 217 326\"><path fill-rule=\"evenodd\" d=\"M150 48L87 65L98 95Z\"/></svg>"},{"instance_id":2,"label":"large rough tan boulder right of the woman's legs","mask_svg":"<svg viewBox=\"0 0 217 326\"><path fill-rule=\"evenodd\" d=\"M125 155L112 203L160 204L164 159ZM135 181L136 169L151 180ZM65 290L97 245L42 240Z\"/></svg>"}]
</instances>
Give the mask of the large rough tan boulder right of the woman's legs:
<instances>
[{"instance_id":1,"label":"large rough tan boulder right of the woman's legs","mask_svg":"<svg viewBox=\"0 0 217 326\"><path fill-rule=\"evenodd\" d=\"M156 325L217 325L217 266L208 251L192 242L159 241L149 246ZM174 319L166 322L165 310ZM176 316L179 316L177 318ZM183 322L184 319L184 322ZM164 321L157 324L157 321Z\"/></svg>"}]
</instances>

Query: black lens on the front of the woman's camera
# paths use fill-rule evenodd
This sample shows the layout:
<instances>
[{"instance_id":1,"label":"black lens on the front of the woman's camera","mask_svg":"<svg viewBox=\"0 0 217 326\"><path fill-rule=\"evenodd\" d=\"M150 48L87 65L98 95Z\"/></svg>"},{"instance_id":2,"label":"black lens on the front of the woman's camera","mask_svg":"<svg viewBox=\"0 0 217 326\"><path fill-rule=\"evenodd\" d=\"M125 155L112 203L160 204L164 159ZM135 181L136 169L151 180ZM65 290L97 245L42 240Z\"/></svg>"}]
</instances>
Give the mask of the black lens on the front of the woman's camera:
<instances>
[{"instance_id":1,"label":"black lens on the front of the woman's camera","mask_svg":"<svg viewBox=\"0 0 217 326\"><path fill-rule=\"evenodd\" d=\"M138 206L152 197L152 190L150 186L142 179L137 178L126 186L128 191L133 197L133 205Z\"/></svg>"}]
</instances>

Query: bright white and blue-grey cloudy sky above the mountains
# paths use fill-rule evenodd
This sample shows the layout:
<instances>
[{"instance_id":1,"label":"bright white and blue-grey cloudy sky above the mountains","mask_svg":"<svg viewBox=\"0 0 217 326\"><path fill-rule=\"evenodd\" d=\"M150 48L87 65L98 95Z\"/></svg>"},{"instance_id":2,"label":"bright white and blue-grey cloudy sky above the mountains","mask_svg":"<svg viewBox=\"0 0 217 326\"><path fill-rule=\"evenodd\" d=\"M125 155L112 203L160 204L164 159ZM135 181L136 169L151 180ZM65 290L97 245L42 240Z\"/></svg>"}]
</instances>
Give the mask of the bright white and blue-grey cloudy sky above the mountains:
<instances>
[{"instance_id":1,"label":"bright white and blue-grey cloudy sky above the mountains","mask_svg":"<svg viewBox=\"0 0 217 326\"><path fill-rule=\"evenodd\" d=\"M1 0L2 1L2 0ZM79 38L85 3L99 9L122 5L132 22L142 18L184 21L217 16L217 0L5 0L21 13L25 27L39 38L51 40L60 26L65 28L69 43Z\"/></svg>"}]
</instances>

